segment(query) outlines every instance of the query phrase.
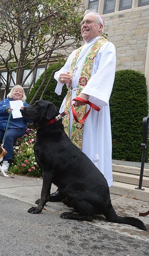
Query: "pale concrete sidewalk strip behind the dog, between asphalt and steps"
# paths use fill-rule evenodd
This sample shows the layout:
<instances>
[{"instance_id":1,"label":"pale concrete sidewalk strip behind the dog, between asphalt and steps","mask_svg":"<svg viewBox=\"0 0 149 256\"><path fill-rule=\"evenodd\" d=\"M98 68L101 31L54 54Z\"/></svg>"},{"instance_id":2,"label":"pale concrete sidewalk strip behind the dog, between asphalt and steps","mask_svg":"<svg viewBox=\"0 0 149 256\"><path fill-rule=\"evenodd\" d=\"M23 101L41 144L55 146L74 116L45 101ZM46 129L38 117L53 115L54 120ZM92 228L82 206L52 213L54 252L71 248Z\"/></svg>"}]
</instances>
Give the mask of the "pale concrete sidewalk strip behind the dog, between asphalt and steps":
<instances>
[{"instance_id":1,"label":"pale concrete sidewalk strip behind the dog, between asphalt and steps","mask_svg":"<svg viewBox=\"0 0 149 256\"><path fill-rule=\"evenodd\" d=\"M34 206L34 201L40 198L41 188L42 179L19 175L9 175L9 177L3 177L0 173L0 195L5 195ZM52 184L51 192L55 192L56 189L57 187ZM118 215L127 215L139 218L144 222L149 230L149 215L145 217L139 216L139 212L146 212L149 210L148 202L128 198L125 195L119 196L114 194L111 194L111 200L112 205ZM62 212L69 211L69 208L66 207L62 202L48 202L45 208L48 211L59 215ZM18 211L18 209L16 210ZM27 210L28 209L26 209L26 211ZM26 212L24 212L24 214L26 214ZM102 229L112 230L135 239L149 241L149 232L139 230L138 228L129 225L107 222L103 215L96 215L90 224Z\"/></svg>"}]
</instances>

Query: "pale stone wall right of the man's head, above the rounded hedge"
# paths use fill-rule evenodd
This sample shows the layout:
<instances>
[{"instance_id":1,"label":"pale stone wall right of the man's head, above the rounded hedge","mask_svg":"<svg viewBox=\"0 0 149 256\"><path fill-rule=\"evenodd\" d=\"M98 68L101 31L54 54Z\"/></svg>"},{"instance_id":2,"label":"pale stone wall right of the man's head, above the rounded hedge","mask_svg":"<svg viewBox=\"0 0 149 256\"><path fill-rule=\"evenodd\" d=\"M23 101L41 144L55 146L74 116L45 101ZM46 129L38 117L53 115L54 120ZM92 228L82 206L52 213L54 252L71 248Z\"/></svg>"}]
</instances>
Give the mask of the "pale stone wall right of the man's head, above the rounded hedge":
<instances>
[{"instance_id":1,"label":"pale stone wall right of the man's head, above the rounded hedge","mask_svg":"<svg viewBox=\"0 0 149 256\"><path fill-rule=\"evenodd\" d=\"M116 69L144 73L149 88L149 6L102 16L107 39L115 44Z\"/></svg>"}]
</instances>

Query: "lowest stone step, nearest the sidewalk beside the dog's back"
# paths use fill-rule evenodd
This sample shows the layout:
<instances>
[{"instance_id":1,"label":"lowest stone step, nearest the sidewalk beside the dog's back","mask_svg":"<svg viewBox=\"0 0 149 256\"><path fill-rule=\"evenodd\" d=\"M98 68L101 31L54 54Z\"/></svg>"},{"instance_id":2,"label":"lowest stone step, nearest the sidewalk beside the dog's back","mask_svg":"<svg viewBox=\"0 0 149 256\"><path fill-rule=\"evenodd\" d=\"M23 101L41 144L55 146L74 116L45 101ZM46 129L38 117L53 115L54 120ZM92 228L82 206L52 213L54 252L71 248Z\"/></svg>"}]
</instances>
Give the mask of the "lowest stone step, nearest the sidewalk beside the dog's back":
<instances>
[{"instance_id":1,"label":"lowest stone step, nearest the sidewalk beside the dog's back","mask_svg":"<svg viewBox=\"0 0 149 256\"><path fill-rule=\"evenodd\" d=\"M126 196L140 201L149 202L149 188L145 187L145 190L138 190L135 188L138 188L138 186L135 187L132 184L115 181L109 190L110 193L114 195ZM147 205L147 207L149 207L149 205Z\"/></svg>"}]
</instances>

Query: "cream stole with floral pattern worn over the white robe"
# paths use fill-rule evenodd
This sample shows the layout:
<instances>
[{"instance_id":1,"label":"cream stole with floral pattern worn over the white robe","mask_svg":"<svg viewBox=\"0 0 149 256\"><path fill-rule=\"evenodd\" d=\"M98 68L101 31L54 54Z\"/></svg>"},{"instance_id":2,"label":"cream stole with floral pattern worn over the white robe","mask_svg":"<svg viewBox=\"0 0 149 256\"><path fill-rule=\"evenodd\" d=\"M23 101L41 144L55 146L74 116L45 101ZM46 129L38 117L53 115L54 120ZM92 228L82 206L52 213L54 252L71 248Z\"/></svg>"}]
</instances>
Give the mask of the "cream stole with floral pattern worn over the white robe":
<instances>
[{"instance_id":1,"label":"cream stole with floral pattern worn over the white robe","mask_svg":"<svg viewBox=\"0 0 149 256\"><path fill-rule=\"evenodd\" d=\"M77 84L77 96L81 93L82 89L84 86L86 86L87 82L89 81L90 77L91 77L91 73L92 73L92 66L94 63L94 59L96 57L97 52L99 51L100 47L107 42L106 38L104 38L103 36L98 39L95 44L92 46L92 48L90 49L88 55L85 58L84 64L83 64L83 68L82 71L80 73L80 79L79 82ZM83 46L80 47L70 66L70 70L69 73L71 76L73 76L74 70L75 70L75 65L77 62L77 58L80 55L81 50L83 49ZM67 97L66 97L66 103L65 103L65 110L70 108L70 101L71 101L71 92L69 92L70 90L72 90L72 79L69 81L69 87L68 87L68 93L67 93ZM85 112L86 112L86 105L85 106L80 106L80 107L75 107L75 111L77 113L77 118L78 120L82 119ZM64 125L64 129L66 134L69 136L69 113L66 115L66 117L63 119L63 125ZM76 145L78 148L82 149L82 138L83 138L83 125L84 123L77 123L74 118L73 118L73 122L72 122L72 131L71 131L71 141L74 145Z\"/></svg>"}]
</instances>

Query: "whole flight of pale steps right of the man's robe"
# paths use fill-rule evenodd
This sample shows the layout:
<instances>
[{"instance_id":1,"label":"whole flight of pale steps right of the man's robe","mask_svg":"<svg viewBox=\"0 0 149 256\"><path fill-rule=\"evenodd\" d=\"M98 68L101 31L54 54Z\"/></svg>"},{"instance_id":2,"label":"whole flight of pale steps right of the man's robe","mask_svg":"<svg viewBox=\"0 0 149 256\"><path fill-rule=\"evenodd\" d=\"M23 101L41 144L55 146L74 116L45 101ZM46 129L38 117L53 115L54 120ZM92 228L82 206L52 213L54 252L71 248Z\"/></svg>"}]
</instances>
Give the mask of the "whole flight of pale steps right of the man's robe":
<instances>
[{"instance_id":1,"label":"whole flight of pale steps right of the man's robe","mask_svg":"<svg viewBox=\"0 0 149 256\"><path fill-rule=\"evenodd\" d=\"M149 202L149 163L143 169L143 182L139 186L141 163L112 160L113 186L110 193Z\"/></svg>"}]
</instances>

